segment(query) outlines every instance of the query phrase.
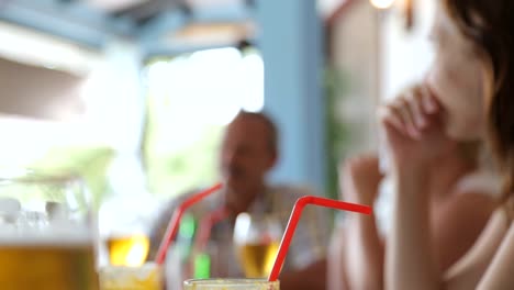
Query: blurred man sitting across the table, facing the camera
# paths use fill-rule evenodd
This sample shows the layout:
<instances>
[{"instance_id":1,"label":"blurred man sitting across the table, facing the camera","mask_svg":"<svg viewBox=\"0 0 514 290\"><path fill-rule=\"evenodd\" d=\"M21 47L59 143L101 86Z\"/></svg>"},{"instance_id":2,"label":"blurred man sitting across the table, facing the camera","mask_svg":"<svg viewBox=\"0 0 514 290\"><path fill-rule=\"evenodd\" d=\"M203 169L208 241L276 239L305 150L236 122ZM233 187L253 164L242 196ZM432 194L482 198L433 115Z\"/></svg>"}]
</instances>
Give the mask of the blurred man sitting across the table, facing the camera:
<instances>
[{"instance_id":1,"label":"blurred man sitting across the table, facing the camera","mask_svg":"<svg viewBox=\"0 0 514 290\"><path fill-rule=\"evenodd\" d=\"M304 188L277 187L266 182L266 176L277 160L278 132L273 122L264 113L241 112L227 126L222 142L220 170L223 190L191 210L199 220L219 209L227 212L227 219L216 223L210 234L210 239L216 245L212 256L217 256L213 257L211 276L245 276L241 259L237 259L242 257L237 257L233 243L239 213L271 216L283 232L297 199L310 194ZM183 198L172 201L157 223L152 237L154 253L166 231L174 204ZM326 216L323 209L308 207L304 210L279 278L280 289L325 289L325 248L331 224Z\"/></svg>"}]
</instances>

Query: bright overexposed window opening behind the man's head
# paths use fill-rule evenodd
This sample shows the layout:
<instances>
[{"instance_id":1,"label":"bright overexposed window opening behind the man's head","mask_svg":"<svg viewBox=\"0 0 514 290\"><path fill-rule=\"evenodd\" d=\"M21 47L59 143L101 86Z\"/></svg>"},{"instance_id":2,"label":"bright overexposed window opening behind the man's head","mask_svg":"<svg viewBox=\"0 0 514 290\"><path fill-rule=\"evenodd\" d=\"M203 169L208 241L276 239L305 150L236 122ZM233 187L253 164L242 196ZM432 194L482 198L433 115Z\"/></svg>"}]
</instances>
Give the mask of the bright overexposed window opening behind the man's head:
<instances>
[{"instance_id":1,"label":"bright overexposed window opening behind the man's head","mask_svg":"<svg viewBox=\"0 0 514 290\"><path fill-rule=\"evenodd\" d=\"M145 76L150 191L170 197L215 182L223 129L239 110L264 107L260 54L234 47L186 53L152 60Z\"/></svg>"}]
</instances>

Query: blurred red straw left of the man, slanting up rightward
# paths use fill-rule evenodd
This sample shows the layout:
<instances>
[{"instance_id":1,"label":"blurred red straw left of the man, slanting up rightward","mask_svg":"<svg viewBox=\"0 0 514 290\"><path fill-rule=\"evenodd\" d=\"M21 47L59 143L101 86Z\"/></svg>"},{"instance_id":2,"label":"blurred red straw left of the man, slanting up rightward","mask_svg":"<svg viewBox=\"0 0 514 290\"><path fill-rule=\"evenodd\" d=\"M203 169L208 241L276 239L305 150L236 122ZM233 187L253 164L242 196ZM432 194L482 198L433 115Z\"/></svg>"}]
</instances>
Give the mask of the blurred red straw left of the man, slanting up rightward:
<instances>
[{"instance_id":1,"label":"blurred red straw left of the man, slanting up rightward","mask_svg":"<svg viewBox=\"0 0 514 290\"><path fill-rule=\"evenodd\" d=\"M168 250L168 247L171 244L171 241L174 241L175 236L177 235L180 220L182 219L182 215L186 212L186 210L191 208L191 205L193 205L194 203L212 194L213 192L220 190L221 188L222 188L222 183L216 183L203 191L200 191L189 197L180 205L178 205L178 208L174 211L174 215L171 216L171 220L169 221L165 237L163 242L160 243L159 249L157 250L157 258L155 259L157 265L163 265L163 263L165 261L166 252Z\"/></svg>"}]
</instances>

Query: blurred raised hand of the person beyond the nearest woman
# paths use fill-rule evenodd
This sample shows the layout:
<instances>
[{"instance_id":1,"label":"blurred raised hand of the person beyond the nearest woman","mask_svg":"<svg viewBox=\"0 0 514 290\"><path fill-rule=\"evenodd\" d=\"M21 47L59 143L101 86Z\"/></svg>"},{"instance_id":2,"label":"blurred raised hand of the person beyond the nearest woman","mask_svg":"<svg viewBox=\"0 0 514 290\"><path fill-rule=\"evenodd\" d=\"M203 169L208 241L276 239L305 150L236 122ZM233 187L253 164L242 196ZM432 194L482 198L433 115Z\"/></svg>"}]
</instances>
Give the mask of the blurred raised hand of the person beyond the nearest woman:
<instances>
[{"instance_id":1,"label":"blurred raised hand of the person beyond the nearest woman","mask_svg":"<svg viewBox=\"0 0 514 290\"><path fill-rule=\"evenodd\" d=\"M344 200L372 205L381 179L377 156L359 156L347 160L339 170Z\"/></svg>"}]
</instances>

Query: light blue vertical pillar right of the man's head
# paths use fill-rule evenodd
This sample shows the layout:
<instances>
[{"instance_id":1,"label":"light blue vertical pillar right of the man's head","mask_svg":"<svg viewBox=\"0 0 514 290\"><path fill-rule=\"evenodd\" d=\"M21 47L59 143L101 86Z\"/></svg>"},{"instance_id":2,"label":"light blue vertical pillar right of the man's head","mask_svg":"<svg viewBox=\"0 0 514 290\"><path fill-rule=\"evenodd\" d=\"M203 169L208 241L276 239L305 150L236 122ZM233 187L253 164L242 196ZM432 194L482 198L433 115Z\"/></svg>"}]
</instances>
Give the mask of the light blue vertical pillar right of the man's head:
<instances>
[{"instance_id":1,"label":"light blue vertical pillar right of the man's head","mask_svg":"<svg viewBox=\"0 0 514 290\"><path fill-rule=\"evenodd\" d=\"M323 191L323 31L315 3L257 1L257 38L265 62L265 110L281 134L281 161L272 179Z\"/></svg>"}]
</instances>

